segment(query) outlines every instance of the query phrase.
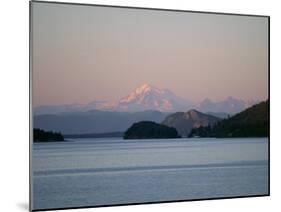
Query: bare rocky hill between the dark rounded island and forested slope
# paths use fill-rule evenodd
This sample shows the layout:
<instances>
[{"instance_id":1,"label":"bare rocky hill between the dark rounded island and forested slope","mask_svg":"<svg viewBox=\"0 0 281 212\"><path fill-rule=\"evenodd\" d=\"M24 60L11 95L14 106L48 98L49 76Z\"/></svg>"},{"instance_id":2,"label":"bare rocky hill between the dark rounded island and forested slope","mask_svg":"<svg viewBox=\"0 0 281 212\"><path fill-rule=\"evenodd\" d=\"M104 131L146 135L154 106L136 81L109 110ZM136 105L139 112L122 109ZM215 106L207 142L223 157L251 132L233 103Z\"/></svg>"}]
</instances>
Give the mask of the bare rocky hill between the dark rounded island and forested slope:
<instances>
[{"instance_id":1,"label":"bare rocky hill between the dark rounded island and forested slope","mask_svg":"<svg viewBox=\"0 0 281 212\"><path fill-rule=\"evenodd\" d=\"M162 124L174 127L179 135L188 137L193 128L212 126L220 118L201 113L197 110L173 113L165 118Z\"/></svg>"}]
</instances>

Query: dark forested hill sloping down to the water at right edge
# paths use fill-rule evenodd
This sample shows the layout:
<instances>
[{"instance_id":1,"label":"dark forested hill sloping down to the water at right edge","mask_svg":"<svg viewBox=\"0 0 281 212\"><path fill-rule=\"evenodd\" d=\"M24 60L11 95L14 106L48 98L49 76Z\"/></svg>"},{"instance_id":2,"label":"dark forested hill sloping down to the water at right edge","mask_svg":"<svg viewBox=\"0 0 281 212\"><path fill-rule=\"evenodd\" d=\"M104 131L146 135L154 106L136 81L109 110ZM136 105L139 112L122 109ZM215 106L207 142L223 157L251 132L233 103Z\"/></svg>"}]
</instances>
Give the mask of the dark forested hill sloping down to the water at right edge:
<instances>
[{"instance_id":1,"label":"dark forested hill sloping down to the water at right edge","mask_svg":"<svg viewBox=\"0 0 281 212\"><path fill-rule=\"evenodd\" d=\"M192 129L189 137L267 137L269 134L268 100L256 104L214 126Z\"/></svg>"}]
</instances>

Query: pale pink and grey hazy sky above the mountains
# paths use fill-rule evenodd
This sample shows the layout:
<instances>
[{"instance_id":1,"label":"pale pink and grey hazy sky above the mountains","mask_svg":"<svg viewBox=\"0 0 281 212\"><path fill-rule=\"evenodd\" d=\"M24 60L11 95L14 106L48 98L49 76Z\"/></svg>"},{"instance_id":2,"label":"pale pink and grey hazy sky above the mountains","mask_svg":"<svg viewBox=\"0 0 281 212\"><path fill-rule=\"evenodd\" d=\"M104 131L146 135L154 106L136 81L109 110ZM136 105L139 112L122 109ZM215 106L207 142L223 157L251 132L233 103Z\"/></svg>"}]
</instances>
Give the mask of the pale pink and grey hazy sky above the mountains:
<instances>
[{"instance_id":1,"label":"pale pink and grey hazy sky above the mountains","mask_svg":"<svg viewBox=\"0 0 281 212\"><path fill-rule=\"evenodd\" d=\"M193 101L267 98L267 18L32 4L35 106L117 100L143 83Z\"/></svg>"}]
</instances>

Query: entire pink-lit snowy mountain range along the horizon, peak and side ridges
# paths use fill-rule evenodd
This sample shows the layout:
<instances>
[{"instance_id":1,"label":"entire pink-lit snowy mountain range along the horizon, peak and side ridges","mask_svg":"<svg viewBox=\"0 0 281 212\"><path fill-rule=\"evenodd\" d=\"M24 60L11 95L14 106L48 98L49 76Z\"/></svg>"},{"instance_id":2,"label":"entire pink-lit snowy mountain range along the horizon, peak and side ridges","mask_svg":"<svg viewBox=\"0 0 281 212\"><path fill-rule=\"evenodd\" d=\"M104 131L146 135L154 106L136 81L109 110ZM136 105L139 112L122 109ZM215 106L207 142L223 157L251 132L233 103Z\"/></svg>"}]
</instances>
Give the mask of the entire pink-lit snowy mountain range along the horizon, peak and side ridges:
<instances>
[{"instance_id":1,"label":"entire pink-lit snowy mountain range along the horizon, peak and side ridges","mask_svg":"<svg viewBox=\"0 0 281 212\"><path fill-rule=\"evenodd\" d=\"M137 87L119 101L92 101L88 104L43 105L34 108L35 115L59 114L65 112L87 112L90 110L140 112L157 110L161 112L179 112L196 109L204 113L235 114L258 103L228 97L223 101L204 99L200 103L177 96L168 89L159 89L147 83ZM227 116L227 115L226 115Z\"/></svg>"}]
</instances>

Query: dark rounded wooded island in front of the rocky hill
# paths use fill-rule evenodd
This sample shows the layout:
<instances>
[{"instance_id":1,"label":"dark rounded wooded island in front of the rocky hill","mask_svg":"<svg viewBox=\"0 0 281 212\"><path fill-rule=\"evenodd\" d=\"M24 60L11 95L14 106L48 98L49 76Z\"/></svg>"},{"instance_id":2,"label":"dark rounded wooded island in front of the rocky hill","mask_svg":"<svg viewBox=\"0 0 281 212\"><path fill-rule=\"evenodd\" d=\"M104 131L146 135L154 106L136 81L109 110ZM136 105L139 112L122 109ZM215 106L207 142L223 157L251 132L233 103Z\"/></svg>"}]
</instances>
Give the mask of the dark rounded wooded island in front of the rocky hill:
<instances>
[{"instance_id":1,"label":"dark rounded wooded island in front of the rocky hill","mask_svg":"<svg viewBox=\"0 0 281 212\"><path fill-rule=\"evenodd\" d=\"M123 136L124 139L164 139L180 138L173 127L157 124L152 121L134 123Z\"/></svg>"}]
</instances>

